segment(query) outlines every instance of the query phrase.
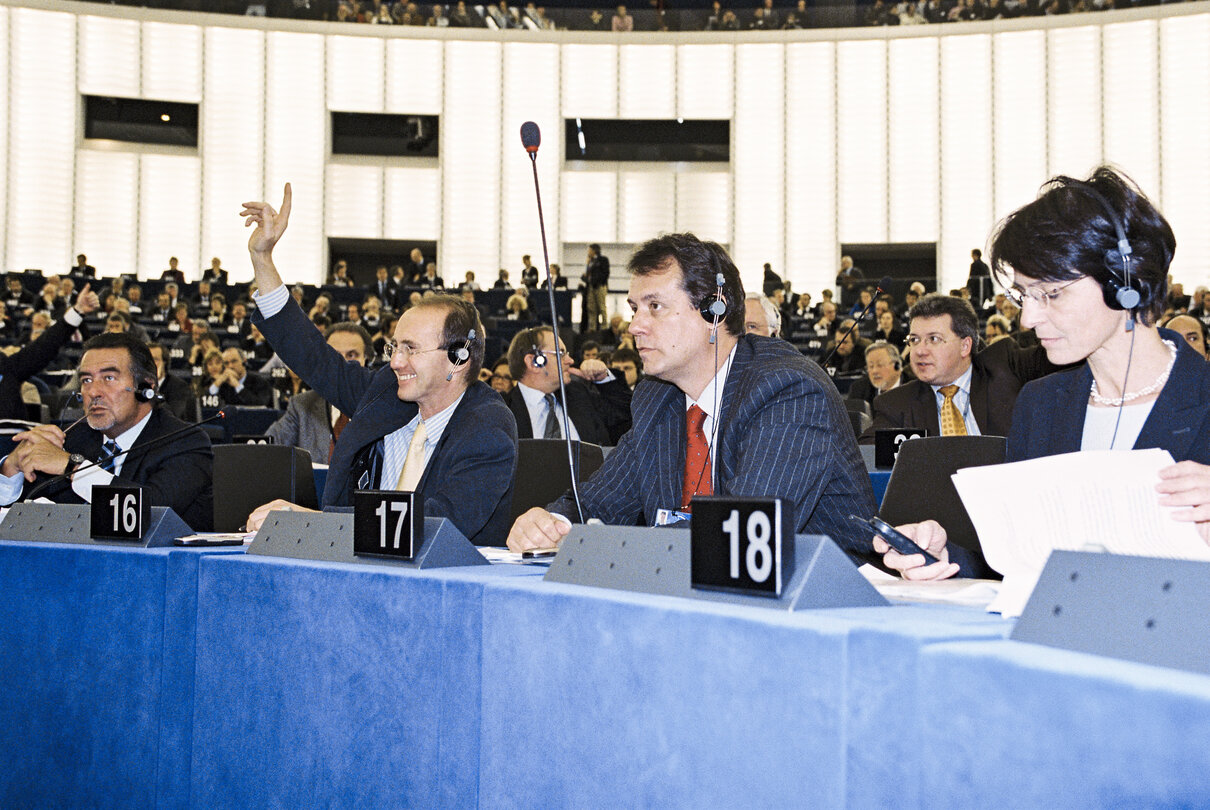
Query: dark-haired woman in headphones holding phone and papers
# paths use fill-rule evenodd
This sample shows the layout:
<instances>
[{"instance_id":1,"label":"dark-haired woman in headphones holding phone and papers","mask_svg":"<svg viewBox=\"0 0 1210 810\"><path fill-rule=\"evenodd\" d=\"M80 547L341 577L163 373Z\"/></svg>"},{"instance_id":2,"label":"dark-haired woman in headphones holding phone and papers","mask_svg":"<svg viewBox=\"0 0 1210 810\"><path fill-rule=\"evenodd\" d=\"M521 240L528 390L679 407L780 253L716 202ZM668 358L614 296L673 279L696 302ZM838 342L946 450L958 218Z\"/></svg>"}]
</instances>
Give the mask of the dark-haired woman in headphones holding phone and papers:
<instances>
[{"instance_id":1,"label":"dark-haired woman in headphones holding phone and papers","mask_svg":"<svg viewBox=\"0 0 1210 810\"><path fill-rule=\"evenodd\" d=\"M1114 223L1130 245L1127 257ZM1210 367L1179 334L1154 326L1175 249L1163 214L1107 167L1088 180L1051 179L1037 200L999 223L992 274L1010 285L1021 323L1037 332L1050 361L1078 363L1020 392L1007 460L1166 449L1176 464L1156 482L1159 504L1181 507L1171 517L1195 523L1210 542ZM1117 297L1125 287L1139 293L1130 310ZM900 530L939 559L922 565L920 555L903 556L876 540L883 562L906 579L968 573L966 553L946 547L937 522Z\"/></svg>"}]
</instances>

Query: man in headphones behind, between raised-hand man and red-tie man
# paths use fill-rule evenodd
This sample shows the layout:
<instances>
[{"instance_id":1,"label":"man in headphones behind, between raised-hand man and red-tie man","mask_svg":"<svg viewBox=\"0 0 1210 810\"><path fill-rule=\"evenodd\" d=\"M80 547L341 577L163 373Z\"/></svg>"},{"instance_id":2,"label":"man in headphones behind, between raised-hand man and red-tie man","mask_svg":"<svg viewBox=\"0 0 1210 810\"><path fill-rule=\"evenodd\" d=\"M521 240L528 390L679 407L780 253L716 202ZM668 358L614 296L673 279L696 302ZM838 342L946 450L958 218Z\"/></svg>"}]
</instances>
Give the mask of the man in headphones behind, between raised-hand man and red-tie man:
<instances>
[{"instance_id":1,"label":"man in headphones behind, between raised-hand man and red-tie man","mask_svg":"<svg viewBox=\"0 0 1210 810\"><path fill-rule=\"evenodd\" d=\"M630 389L599 360L571 367L571 355L559 341L566 414L571 438L592 444L617 444L630 429ZM517 418L518 438L563 438L564 408L559 401L554 333L549 327L522 329L508 346L508 370L517 386L505 395Z\"/></svg>"}]
</instances>

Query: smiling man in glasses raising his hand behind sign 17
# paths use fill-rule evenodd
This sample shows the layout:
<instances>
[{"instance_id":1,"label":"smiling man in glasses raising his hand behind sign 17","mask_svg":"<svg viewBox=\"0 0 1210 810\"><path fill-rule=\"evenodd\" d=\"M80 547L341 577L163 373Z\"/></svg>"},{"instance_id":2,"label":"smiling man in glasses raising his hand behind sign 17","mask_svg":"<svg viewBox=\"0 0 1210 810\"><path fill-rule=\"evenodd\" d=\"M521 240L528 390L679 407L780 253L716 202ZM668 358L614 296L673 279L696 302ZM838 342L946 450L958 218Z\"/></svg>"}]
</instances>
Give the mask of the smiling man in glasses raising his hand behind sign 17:
<instances>
[{"instance_id":1,"label":"smiling man in glasses raising his hand behind sign 17","mask_svg":"<svg viewBox=\"0 0 1210 810\"><path fill-rule=\"evenodd\" d=\"M253 321L287 366L350 414L332 454L324 506L350 506L357 489L415 492L426 516L449 518L477 545L503 545L517 420L478 381L484 351L478 310L451 295L426 298L399 317L385 346L390 368L345 362L290 298L273 265L289 213L289 184L281 211L244 203L244 224L255 225L248 240L259 289ZM248 529L258 529L271 511L299 509L281 500L265 504L249 516Z\"/></svg>"}]
</instances>

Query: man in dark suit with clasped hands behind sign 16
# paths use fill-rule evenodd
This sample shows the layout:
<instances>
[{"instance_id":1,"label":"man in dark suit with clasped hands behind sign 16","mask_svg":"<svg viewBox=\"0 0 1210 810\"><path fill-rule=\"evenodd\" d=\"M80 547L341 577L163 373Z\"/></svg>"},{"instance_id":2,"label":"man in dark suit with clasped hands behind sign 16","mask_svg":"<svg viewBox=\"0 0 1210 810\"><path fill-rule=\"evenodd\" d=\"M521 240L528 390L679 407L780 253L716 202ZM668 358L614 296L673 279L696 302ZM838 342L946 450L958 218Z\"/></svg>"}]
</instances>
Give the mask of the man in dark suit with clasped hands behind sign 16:
<instances>
[{"instance_id":1,"label":"man in dark suit with clasped hands behind sign 16","mask_svg":"<svg viewBox=\"0 0 1210 810\"><path fill-rule=\"evenodd\" d=\"M0 464L0 500L28 496L54 476L65 477L40 494L60 504L91 502L94 486L143 487L152 506L169 506L195 530L208 530L211 440L194 427L172 442L154 443L188 425L145 393L154 392L156 373L146 345L127 333L99 334L85 344L79 373L87 426L64 435L54 425L39 425L15 436L17 449ZM102 464L81 470L94 461Z\"/></svg>"}]
</instances>

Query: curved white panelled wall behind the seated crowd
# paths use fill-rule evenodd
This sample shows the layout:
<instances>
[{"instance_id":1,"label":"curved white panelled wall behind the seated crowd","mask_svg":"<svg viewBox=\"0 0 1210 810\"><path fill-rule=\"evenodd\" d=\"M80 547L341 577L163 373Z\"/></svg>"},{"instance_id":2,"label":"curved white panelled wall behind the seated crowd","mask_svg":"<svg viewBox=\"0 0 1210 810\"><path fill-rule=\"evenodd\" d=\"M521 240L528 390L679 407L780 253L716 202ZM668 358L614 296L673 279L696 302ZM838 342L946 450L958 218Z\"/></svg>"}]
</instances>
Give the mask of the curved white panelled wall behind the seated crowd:
<instances>
[{"instance_id":1,"label":"curved white panelled wall behind the seated crowd","mask_svg":"<svg viewBox=\"0 0 1210 810\"><path fill-rule=\"evenodd\" d=\"M943 286L1055 173L1124 167L1210 268L1210 2L920 28L760 34L382 29L0 1L0 266L250 277L238 203L294 185L278 251L318 281L325 236L426 239L446 277L561 245L690 229L756 283L830 285L842 242L938 242ZM202 103L195 154L85 144L80 94ZM438 161L333 160L328 110L442 116ZM561 119L730 117L728 168L564 166ZM623 257L615 257L615 262ZM581 262L569 254L567 263Z\"/></svg>"}]
</instances>

